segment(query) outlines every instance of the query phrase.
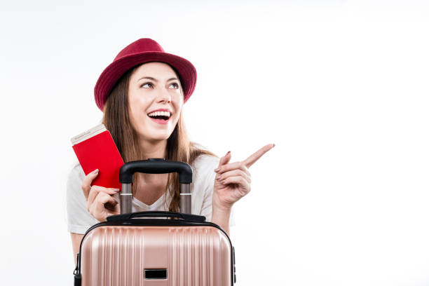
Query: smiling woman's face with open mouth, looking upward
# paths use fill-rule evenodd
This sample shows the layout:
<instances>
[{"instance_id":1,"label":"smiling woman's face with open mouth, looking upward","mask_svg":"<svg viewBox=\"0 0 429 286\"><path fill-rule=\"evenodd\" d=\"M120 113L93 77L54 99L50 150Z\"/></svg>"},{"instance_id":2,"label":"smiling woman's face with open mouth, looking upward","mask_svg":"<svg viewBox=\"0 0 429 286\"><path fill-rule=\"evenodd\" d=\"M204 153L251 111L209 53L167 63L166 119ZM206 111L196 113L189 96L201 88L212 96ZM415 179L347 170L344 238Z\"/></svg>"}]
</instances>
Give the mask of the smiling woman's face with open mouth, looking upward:
<instances>
[{"instance_id":1,"label":"smiling woman's face with open mouth, looking upward","mask_svg":"<svg viewBox=\"0 0 429 286\"><path fill-rule=\"evenodd\" d=\"M182 94L168 64L148 62L135 69L128 85L128 104L132 127L140 139L154 142L170 137L182 110ZM154 113L158 109L165 111Z\"/></svg>"}]
</instances>

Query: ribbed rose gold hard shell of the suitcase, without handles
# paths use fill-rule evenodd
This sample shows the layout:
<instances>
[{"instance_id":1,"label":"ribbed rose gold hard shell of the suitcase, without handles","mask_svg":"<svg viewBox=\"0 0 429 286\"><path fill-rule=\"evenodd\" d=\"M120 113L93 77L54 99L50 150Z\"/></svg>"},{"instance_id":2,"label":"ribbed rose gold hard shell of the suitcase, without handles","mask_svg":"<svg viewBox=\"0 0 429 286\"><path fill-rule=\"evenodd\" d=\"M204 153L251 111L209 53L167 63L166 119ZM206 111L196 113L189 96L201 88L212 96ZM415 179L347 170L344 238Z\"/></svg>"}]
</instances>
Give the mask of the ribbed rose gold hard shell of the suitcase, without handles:
<instances>
[{"instance_id":1,"label":"ribbed rose gold hard shell of the suitcase, without handles","mask_svg":"<svg viewBox=\"0 0 429 286\"><path fill-rule=\"evenodd\" d=\"M81 243L83 286L233 285L232 245L214 226L97 226ZM166 269L146 279L145 269Z\"/></svg>"}]
</instances>

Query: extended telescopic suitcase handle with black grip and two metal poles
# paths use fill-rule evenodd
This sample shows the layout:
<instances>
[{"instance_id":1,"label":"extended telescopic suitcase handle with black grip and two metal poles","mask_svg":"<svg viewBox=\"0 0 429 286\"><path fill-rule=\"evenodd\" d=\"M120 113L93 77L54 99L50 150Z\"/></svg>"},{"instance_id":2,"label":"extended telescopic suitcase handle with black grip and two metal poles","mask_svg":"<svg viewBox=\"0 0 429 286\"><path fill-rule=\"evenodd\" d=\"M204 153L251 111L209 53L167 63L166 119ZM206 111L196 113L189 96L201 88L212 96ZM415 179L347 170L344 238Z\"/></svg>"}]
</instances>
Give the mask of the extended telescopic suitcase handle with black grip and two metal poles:
<instances>
[{"instance_id":1,"label":"extended telescopic suitcase handle with black grip and two metal poles","mask_svg":"<svg viewBox=\"0 0 429 286\"><path fill-rule=\"evenodd\" d=\"M169 161L163 158L149 158L148 160L132 161L123 164L119 170L121 189L121 214L132 211L131 183L135 172L147 174L165 174L177 172L180 183L180 212L191 213L192 204L192 168L189 164L179 161Z\"/></svg>"}]
</instances>

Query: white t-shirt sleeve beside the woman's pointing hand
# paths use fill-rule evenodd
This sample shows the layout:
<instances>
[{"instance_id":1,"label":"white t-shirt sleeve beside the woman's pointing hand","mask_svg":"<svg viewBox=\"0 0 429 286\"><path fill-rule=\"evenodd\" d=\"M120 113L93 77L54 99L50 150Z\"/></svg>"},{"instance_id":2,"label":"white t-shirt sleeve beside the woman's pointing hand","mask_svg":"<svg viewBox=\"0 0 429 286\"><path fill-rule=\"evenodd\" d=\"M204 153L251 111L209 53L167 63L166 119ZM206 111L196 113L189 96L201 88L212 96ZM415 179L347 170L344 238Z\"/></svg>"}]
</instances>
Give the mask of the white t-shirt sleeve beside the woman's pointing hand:
<instances>
[{"instance_id":1,"label":"white t-shirt sleeve beside the woman's pointing hand","mask_svg":"<svg viewBox=\"0 0 429 286\"><path fill-rule=\"evenodd\" d=\"M204 156L205 160L201 160L198 164L200 172L205 175L204 198L203 206L201 207L200 215L205 216L207 222L212 221L212 197L214 190L214 177L216 177L216 169L219 165L219 158L214 156ZM234 208L231 209L231 217L229 217L229 226L235 226Z\"/></svg>"}]
</instances>

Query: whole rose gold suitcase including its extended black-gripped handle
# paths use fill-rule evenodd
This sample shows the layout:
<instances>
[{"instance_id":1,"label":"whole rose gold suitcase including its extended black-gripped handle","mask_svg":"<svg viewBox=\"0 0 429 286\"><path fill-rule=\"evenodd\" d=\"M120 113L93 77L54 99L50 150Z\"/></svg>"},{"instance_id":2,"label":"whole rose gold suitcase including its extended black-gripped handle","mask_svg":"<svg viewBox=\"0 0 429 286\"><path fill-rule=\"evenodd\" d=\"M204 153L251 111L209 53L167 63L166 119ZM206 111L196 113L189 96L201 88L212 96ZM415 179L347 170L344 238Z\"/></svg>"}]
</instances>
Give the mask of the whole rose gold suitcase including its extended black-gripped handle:
<instances>
[{"instance_id":1,"label":"whole rose gold suitcase including its extended black-gripped handle","mask_svg":"<svg viewBox=\"0 0 429 286\"><path fill-rule=\"evenodd\" d=\"M135 172L178 172L181 213L131 213ZM235 254L217 224L191 212L192 169L183 162L151 158L121 168L121 214L83 236L74 285L226 286L236 282Z\"/></svg>"}]
</instances>

